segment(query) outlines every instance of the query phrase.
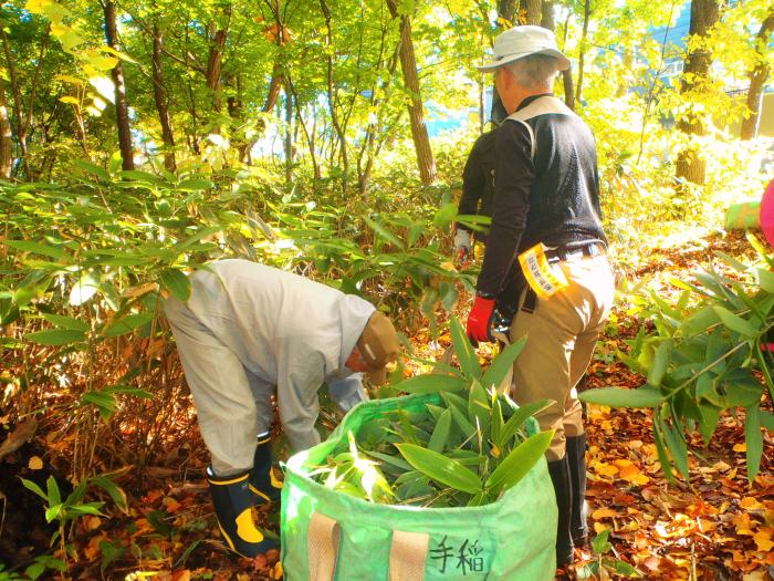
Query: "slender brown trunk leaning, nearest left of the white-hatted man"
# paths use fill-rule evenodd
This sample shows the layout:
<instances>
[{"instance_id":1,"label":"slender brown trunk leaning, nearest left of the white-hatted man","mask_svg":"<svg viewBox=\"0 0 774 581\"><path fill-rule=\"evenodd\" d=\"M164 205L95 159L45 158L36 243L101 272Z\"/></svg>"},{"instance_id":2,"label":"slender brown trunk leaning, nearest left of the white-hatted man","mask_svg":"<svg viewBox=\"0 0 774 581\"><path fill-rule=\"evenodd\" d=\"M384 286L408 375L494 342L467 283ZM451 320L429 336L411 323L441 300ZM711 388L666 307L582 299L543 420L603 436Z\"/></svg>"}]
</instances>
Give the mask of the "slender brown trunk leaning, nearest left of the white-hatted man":
<instances>
[{"instance_id":1,"label":"slender brown trunk leaning, nearest left of the white-hatted man","mask_svg":"<svg viewBox=\"0 0 774 581\"><path fill-rule=\"evenodd\" d=\"M404 71L404 83L410 92L408 116L411 121L411 138L417 151L417 164L419 177L426 186L436 180L436 162L432 158L430 137L425 125L425 110L421 93L419 91L419 76L417 75L417 59L414 54L414 41L411 40L411 19L400 15L395 0L387 0L393 18L400 19L400 68Z\"/></svg>"}]
</instances>

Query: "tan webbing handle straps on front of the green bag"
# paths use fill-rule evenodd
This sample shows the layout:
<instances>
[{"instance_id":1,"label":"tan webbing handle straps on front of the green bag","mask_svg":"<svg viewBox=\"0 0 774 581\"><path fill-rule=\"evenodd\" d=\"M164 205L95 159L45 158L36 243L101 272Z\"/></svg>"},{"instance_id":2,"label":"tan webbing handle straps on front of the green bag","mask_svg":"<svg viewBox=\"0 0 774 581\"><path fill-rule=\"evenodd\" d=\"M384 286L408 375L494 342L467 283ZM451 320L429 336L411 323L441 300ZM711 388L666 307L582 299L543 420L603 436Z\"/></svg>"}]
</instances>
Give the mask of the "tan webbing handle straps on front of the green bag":
<instances>
[{"instance_id":1,"label":"tan webbing handle straps on front of the green bag","mask_svg":"<svg viewBox=\"0 0 774 581\"><path fill-rule=\"evenodd\" d=\"M333 581L338 560L338 522L313 512L306 528L310 581ZM423 581L425 561L430 547L427 532L393 531L389 548L389 581Z\"/></svg>"}]
</instances>

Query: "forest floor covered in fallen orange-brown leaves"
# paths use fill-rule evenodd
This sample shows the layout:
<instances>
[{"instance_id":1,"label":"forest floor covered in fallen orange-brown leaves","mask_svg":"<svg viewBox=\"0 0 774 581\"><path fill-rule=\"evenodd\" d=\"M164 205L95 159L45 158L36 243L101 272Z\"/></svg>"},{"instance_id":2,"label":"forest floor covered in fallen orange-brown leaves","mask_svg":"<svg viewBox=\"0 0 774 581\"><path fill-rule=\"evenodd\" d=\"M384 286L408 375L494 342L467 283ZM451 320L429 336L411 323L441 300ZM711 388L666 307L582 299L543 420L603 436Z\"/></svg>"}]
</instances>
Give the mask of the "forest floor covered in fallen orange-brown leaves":
<instances>
[{"instance_id":1,"label":"forest floor covered in fallen orange-brown leaves","mask_svg":"<svg viewBox=\"0 0 774 581\"><path fill-rule=\"evenodd\" d=\"M647 257L644 260L625 258L620 263L626 263L627 276L648 277L659 292L668 294L673 290L662 282L667 280L665 273L688 278L718 250L747 259L754 256L743 236L715 235L663 250L642 249L639 253ZM626 350L625 340L637 333L638 325L626 311L614 312L583 388L636 387L645 382L615 357L616 350ZM420 355L431 357L440 355L448 338L433 343L422 330L412 342ZM743 424L733 415L722 418L708 447L698 437L692 442L698 453L690 458L690 481L669 485L658 463L649 411L589 406L587 430L588 525L592 537L610 529L613 549L608 557L636 567L644 579L774 579L771 434L765 436L761 471L752 486L745 476ZM206 450L198 432L184 436L188 439L185 454L189 456L186 470L146 468L140 478L121 481L128 494L126 512L111 512L109 519L85 517L75 536L77 559L71 559L72 579L281 579L278 551L250 560L234 559L222 548L203 479ZM33 456L45 455L50 444L45 434L38 434L33 443L9 457L11 464L6 458L0 469L0 556L2 538L21 535L20 527L29 529L24 535L31 539L30 544L48 544L52 529L32 513L41 510L40 501L9 499L21 488L13 466L28 466ZM21 511L25 519L20 521L14 511ZM276 511L262 509L259 519L264 527L279 530ZM576 557L578 571L597 558L587 550L577 551ZM17 554L14 562L6 564L23 570L25 560L24 554ZM619 579L613 570L605 573L603 579ZM0 567L0 580L13 579L4 574Z\"/></svg>"}]
</instances>

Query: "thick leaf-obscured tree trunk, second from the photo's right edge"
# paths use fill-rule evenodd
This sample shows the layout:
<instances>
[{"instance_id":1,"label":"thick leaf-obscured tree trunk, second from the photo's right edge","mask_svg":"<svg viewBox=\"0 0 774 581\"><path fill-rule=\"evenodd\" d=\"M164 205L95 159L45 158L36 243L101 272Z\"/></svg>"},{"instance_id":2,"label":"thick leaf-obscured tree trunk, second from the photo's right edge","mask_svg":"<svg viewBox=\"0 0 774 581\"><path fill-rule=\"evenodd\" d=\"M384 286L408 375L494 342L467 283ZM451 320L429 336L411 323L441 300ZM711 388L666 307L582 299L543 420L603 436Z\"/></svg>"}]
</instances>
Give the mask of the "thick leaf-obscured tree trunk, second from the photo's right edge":
<instances>
[{"instance_id":1,"label":"thick leaf-obscured tree trunk, second from the photo's right edge","mask_svg":"<svg viewBox=\"0 0 774 581\"><path fill-rule=\"evenodd\" d=\"M719 0L692 0L690 38L707 37L710 28L718 22L720 15ZM708 80L712 53L700 46L686 55L686 66L680 81L680 93L701 90ZM677 123L678 128L686 135L703 135L704 125L692 112L688 112ZM694 184L703 184L705 180L705 164L693 147L680 152L676 164L676 175Z\"/></svg>"}]
</instances>

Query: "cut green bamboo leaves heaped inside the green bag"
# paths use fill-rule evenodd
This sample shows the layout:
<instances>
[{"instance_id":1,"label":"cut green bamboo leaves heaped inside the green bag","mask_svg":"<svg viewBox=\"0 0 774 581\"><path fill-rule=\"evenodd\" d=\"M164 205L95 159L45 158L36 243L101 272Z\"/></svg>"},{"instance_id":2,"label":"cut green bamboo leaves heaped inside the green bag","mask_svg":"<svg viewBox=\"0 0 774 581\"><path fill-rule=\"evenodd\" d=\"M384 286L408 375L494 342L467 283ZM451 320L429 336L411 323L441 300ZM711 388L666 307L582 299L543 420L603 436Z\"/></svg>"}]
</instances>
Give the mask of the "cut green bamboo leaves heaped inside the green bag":
<instances>
[{"instance_id":1,"label":"cut green bamboo leaves heaped inside the green bag","mask_svg":"<svg viewBox=\"0 0 774 581\"><path fill-rule=\"evenodd\" d=\"M450 326L457 352L473 353L456 318ZM504 365L513 365L523 343L511 346L517 349L495 357L484 376L493 370L496 378ZM478 506L498 499L548 448L553 430L527 435L524 428L550 402L516 407L496 393L496 384L484 390L478 361L464 361L450 375L419 375L394 386L398 392L438 393L443 405L415 414L398 409L374 419L359 434L359 446L349 433L348 449L335 450L313 474L327 487L375 502Z\"/></svg>"}]
</instances>

